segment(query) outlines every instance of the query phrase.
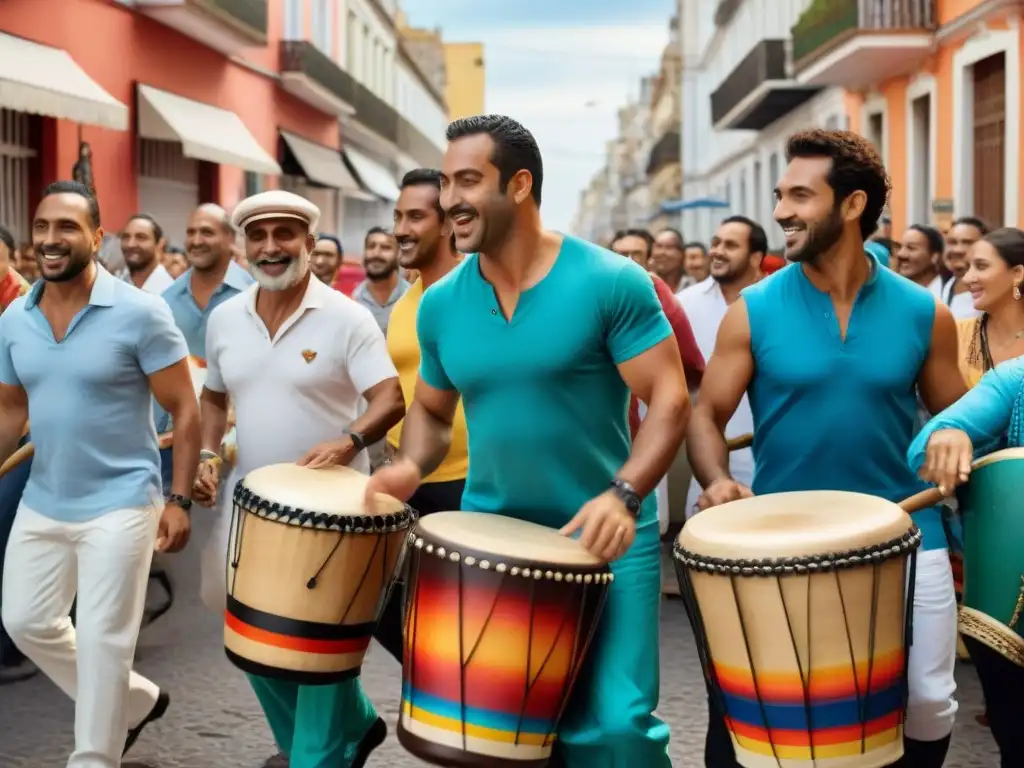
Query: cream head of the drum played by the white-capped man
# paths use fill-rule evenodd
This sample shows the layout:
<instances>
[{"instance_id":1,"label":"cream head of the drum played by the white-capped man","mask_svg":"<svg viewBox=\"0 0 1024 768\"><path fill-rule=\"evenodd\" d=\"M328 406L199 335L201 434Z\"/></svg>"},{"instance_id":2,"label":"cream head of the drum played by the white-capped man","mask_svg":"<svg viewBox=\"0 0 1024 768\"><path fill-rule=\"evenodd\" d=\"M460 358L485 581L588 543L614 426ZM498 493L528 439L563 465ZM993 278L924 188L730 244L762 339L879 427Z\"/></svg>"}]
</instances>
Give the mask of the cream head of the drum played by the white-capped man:
<instances>
[{"instance_id":1,"label":"cream head of the drum played by the white-capped man","mask_svg":"<svg viewBox=\"0 0 1024 768\"><path fill-rule=\"evenodd\" d=\"M309 469L298 464L270 464L247 474L242 484L267 502L347 517L367 514L364 495L369 481L369 475L349 467ZM397 499L380 494L370 514L386 517L404 509Z\"/></svg>"}]
</instances>

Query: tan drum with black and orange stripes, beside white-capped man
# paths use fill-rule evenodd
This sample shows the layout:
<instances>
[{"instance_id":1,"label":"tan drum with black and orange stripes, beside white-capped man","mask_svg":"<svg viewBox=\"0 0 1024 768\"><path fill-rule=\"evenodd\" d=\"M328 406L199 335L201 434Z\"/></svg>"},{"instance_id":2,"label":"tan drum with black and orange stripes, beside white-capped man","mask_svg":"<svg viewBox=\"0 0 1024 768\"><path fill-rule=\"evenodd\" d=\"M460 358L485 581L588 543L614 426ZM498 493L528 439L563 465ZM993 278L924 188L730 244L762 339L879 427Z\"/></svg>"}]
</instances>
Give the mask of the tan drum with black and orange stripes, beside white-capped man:
<instances>
[{"instance_id":1,"label":"tan drum with black and orange stripes, beside white-capped man","mask_svg":"<svg viewBox=\"0 0 1024 768\"><path fill-rule=\"evenodd\" d=\"M272 464L234 488L224 648L245 672L303 684L359 674L412 513L347 467Z\"/></svg>"}]
</instances>

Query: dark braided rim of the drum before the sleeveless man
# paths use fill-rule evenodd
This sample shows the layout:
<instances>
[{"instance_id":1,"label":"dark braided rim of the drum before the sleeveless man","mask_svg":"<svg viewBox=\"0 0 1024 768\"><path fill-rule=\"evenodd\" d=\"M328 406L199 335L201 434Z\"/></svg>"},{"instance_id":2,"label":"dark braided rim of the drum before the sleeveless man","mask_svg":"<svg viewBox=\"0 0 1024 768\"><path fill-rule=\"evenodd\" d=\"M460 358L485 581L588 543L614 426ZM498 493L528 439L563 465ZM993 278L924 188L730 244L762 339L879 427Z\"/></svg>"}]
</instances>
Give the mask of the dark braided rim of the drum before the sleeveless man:
<instances>
[{"instance_id":1,"label":"dark braided rim of the drum before the sleeveless man","mask_svg":"<svg viewBox=\"0 0 1024 768\"><path fill-rule=\"evenodd\" d=\"M766 557L760 559L727 559L711 557L691 552L680 546L677 541L672 548L673 558L684 567L711 573L769 577L788 573L827 573L834 570L855 568L871 563L884 562L900 557L921 546L921 528L913 522L902 536L882 544L833 552L822 555L803 555L800 557Z\"/></svg>"}]
</instances>

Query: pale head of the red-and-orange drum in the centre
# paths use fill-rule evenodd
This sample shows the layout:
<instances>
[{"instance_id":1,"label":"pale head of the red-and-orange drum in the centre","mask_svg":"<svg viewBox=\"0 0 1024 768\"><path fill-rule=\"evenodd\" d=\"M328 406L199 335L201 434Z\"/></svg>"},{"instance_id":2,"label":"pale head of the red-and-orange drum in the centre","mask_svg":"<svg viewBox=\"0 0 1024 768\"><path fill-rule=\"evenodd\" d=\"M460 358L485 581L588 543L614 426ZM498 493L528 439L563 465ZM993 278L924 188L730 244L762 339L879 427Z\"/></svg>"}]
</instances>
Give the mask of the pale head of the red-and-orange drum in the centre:
<instances>
[{"instance_id":1,"label":"pale head of the red-and-orange drum in the centre","mask_svg":"<svg viewBox=\"0 0 1024 768\"><path fill-rule=\"evenodd\" d=\"M496 558L531 560L574 567L600 567L603 561L574 539L554 528L484 512L435 512L420 518L416 532L449 547L466 547Z\"/></svg>"}]
</instances>

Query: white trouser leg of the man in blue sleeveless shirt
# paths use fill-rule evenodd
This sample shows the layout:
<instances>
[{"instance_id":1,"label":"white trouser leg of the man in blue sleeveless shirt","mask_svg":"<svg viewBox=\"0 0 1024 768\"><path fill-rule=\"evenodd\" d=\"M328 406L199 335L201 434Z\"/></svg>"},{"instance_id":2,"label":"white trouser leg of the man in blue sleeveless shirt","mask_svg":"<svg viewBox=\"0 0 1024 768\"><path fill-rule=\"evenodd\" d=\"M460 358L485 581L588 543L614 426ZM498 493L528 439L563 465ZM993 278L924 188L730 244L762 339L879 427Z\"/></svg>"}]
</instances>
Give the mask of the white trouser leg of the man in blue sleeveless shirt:
<instances>
[{"instance_id":1,"label":"white trouser leg of the man in blue sleeveless shirt","mask_svg":"<svg viewBox=\"0 0 1024 768\"><path fill-rule=\"evenodd\" d=\"M948 736L956 718L956 596L946 550L918 554L913 645L908 668L905 732L919 741Z\"/></svg>"}]
</instances>

